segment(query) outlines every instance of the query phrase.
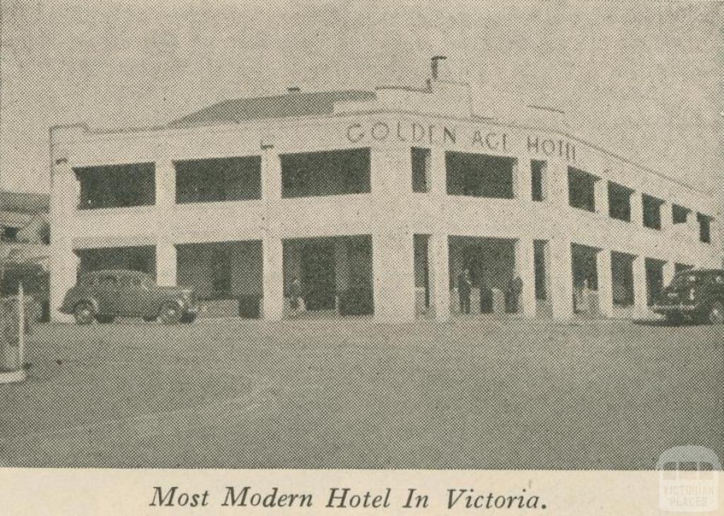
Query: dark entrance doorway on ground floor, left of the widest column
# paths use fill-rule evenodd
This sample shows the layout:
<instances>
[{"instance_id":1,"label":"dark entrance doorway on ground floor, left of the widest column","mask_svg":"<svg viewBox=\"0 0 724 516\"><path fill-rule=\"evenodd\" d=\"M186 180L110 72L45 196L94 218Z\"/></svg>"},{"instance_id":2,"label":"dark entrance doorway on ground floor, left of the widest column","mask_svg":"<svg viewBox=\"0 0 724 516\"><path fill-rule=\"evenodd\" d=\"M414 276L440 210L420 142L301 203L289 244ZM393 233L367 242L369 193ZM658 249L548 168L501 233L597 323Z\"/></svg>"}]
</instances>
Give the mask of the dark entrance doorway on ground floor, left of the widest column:
<instances>
[{"instance_id":1,"label":"dark entrance doorway on ground floor, left of the widest column","mask_svg":"<svg viewBox=\"0 0 724 516\"><path fill-rule=\"evenodd\" d=\"M302 249L301 283L307 310L334 310L334 242L310 242Z\"/></svg>"}]
</instances>

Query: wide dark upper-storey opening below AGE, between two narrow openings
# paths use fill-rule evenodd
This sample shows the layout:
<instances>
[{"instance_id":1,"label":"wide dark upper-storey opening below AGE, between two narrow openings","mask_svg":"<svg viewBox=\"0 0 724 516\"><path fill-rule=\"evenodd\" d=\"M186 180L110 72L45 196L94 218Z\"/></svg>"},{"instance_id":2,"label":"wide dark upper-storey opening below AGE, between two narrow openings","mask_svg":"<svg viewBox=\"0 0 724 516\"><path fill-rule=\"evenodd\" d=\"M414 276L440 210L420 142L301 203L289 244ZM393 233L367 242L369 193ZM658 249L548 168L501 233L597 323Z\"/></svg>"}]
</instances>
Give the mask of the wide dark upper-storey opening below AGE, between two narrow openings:
<instances>
[{"instance_id":1,"label":"wide dark upper-storey opening below AGE, between two narrow openings","mask_svg":"<svg viewBox=\"0 0 724 516\"><path fill-rule=\"evenodd\" d=\"M445 153L448 195L512 199L515 158Z\"/></svg>"}]
</instances>

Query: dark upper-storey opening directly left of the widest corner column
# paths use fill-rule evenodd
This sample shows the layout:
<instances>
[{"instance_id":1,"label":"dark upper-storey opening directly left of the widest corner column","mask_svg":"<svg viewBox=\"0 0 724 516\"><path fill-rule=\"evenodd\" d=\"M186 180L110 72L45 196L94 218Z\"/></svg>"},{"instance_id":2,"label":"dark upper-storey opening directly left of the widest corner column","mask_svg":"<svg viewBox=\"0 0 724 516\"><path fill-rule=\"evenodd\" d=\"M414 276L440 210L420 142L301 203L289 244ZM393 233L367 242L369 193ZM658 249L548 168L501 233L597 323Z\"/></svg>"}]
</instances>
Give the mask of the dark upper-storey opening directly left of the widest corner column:
<instances>
[{"instance_id":1,"label":"dark upper-storey opening directly left of the widest corner column","mask_svg":"<svg viewBox=\"0 0 724 516\"><path fill-rule=\"evenodd\" d=\"M369 193L369 148L281 154L282 197Z\"/></svg>"}]
</instances>

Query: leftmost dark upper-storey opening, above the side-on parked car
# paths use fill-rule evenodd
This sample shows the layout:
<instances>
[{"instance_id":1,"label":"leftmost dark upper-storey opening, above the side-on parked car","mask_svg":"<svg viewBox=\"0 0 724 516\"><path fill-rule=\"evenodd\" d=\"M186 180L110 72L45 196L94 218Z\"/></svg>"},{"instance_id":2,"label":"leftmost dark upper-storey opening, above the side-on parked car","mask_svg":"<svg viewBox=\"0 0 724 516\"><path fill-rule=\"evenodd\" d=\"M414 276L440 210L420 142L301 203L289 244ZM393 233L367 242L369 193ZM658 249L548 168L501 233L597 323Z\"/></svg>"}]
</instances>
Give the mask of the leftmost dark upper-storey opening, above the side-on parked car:
<instances>
[{"instance_id":1,"label":"leftmost dark upper-storey opening, above the side-on parked car","mask_svg":"<svg viewBox=\"0 0 724 516\"><path fill-rule=\"evenodd\" d=\"M85 166L73 169L80 182L78 209L127 208L156 203L153 163Z\"/></svg>"}]
</instances>

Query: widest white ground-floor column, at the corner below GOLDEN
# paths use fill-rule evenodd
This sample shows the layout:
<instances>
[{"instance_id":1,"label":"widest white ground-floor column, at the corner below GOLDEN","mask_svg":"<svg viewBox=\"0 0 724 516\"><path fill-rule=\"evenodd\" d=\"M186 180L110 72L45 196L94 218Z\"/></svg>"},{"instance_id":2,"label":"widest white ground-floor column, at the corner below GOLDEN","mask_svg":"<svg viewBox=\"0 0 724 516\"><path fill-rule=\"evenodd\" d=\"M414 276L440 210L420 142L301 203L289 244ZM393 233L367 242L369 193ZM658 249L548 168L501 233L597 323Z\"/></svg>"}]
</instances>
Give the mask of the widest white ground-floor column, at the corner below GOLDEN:
<instances>
[{"instance_id":1,"label":"widest white ground-floor column, at the corner below GOLDEN","mask_svg":"<svg viewBox=\"0 0 724 516\"><path fill-rule=\"evenodd\" d=\"M400 323L415 318L413 235L372 235L374 320Z\"/></svg>"}]
</instances>

